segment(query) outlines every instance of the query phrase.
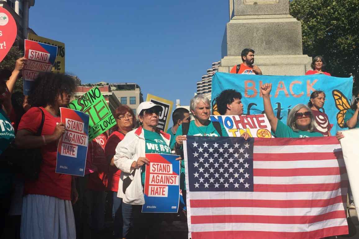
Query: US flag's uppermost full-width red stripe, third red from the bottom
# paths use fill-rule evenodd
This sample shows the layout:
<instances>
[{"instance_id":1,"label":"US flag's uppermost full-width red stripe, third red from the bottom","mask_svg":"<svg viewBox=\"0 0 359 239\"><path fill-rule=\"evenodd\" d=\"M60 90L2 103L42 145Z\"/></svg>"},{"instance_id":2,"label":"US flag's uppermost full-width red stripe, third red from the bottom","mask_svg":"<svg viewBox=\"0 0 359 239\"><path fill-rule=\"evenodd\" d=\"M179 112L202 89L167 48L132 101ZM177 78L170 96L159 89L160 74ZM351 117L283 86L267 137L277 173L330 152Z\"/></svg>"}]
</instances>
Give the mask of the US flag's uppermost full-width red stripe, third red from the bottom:
<instances>
[{"instance_id":1,"label":"US flag's uppermost full-width red stripe, third red from the bottom","mask_svg":"<svg viewBox=\"0 0 359 239\"><path fill-rule=\"evenodd\" d=\"M195 199L190 200L191 208L323 208L344 203L346 195L330 199L312 200L259 200L259 199Z\"/></svg>"}]
</instances>

